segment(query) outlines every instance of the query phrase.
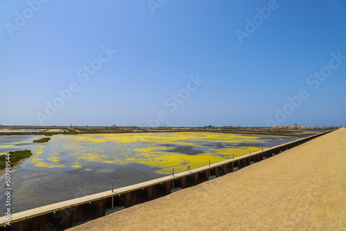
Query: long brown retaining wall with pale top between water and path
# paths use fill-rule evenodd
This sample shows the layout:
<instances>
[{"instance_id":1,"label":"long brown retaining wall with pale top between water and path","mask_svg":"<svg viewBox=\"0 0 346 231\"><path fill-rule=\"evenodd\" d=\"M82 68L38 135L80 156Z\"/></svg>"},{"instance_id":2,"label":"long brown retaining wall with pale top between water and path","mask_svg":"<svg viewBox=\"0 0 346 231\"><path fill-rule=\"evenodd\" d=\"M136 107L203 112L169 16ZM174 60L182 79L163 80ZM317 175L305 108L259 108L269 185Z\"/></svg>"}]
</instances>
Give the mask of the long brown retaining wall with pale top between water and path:
<instances>
[{"instance_id":1,"label":"long brown retaining wall with pale top between water and path","mask_svg":"<svg viewBox=\"0 0 346 231\"><path fill-rule=\"evenodd\" d=\"M318 133L314 136L264 149L263 151L257 151L253 154L174 174L174 176L165 176L152 181L118 188L113 190L113 192L109 190L11 214L10 225L6 225L6 216L2 216L0 218L0 231L65 230L71 228L73 224L97 219L111 212L151 201L185 187L192 187L212 178L237 171L253 163L280 154L280 152L286 149L302 145L304 142L331 131Z\"/></svg>"}]
</instances>

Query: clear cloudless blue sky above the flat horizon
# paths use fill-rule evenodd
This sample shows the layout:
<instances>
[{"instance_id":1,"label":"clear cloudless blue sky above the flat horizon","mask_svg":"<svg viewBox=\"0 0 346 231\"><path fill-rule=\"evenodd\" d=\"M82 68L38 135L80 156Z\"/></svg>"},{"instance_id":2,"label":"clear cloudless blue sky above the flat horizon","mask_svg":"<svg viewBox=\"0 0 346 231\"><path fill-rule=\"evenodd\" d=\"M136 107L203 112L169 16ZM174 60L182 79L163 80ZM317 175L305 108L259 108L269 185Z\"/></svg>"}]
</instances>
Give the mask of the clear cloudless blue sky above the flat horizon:
<instances>
[{"instance_id":1,"label":"clear cloudless blue sky above the flat horizon","mask_svg":"<svg viewBox=\"0 0 346 231\"><path fill-rule=\"evenodd\" d=\"M0 124L345 126L346 1L1 1Z\"/></svg>"}]
</instances>

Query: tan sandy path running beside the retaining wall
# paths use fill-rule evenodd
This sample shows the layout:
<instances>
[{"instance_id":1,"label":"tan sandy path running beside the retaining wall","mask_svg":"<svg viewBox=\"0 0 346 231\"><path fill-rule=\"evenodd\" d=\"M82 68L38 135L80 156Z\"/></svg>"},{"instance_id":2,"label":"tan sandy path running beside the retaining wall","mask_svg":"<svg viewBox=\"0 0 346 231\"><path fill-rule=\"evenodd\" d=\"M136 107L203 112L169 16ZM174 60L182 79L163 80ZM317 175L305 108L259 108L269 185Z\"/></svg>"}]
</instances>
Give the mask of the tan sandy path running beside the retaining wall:
<instances>
[{"instance_id":1,"label":"tan sandy path running beside the retaining wall","mask_svg":"<svg viewBox=\"0 0 346 231\"><path fill-rule=\"evenodd\" d=\"M69 230L346 230L346 129Z\"/></svg>"}]
</instances>

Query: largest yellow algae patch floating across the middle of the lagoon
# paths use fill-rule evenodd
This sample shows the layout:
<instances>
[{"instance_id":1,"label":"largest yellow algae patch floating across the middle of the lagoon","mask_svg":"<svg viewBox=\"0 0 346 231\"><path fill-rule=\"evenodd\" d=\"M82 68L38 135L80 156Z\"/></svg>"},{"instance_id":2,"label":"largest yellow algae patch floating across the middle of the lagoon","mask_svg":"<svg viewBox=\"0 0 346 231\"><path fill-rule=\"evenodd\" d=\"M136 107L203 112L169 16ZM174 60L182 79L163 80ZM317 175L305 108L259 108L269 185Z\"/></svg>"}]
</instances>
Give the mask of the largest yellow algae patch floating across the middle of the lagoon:
<instances>
[{"instance_id":1,"label":"largest yellow algae patch floating across the middle of the lagoon","mask_svg":"<svg viewBox=\"0 0 346 231\"><path fill-rule=\"evenodd\" d=\"M45 145L35 145L31 163L37 167L64 167L57 165L64 160L70 168L82 168L85 162L113 165L141 164L156 168L158 174L171 174L203 167L233 157L259 151L259 147L230 147L233 143L265 142L261 136L212 132L164 132L164 133L106 133L54 136ZM224 145L217 149L216 145ZM248 144L247 144L248 145ZM176 147L195 147L194 155L172 152ZM60 154L64 152L64 155ZM82 161L81 161L82 160ZM107 168L107 167L106 167ZM91 171L91 169L86 169Z\"/></svg>"}]
</instances>

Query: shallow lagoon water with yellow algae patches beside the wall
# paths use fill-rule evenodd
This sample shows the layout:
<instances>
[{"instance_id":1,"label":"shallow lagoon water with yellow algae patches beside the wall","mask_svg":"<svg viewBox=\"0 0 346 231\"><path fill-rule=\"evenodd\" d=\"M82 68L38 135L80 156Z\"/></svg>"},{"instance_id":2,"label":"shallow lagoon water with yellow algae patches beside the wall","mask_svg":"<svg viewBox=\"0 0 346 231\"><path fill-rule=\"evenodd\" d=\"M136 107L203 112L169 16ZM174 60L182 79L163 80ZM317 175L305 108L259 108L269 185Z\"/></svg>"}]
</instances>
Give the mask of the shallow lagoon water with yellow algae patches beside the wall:
<instances>
[{"instance_id":1,"label":"shallow lagoon water with yellow algae patches beside the wall","mask_svg":"<svg viewBox=\"0 0 346 231\"><path fill-rule=\"evenodd\" d=\"M228 158L280 145L296 138L233 133L124 133L0 136L0 154L30 149L19 169L11 172L12 212L57 203L172 172L183 172ZM0 184L5 185L4 176ZM0 203L5 196L0 195ZM1 209L2 210L2 209ZM3 211L0 211L3 212Z\"/></svg>"}]
</instances>

